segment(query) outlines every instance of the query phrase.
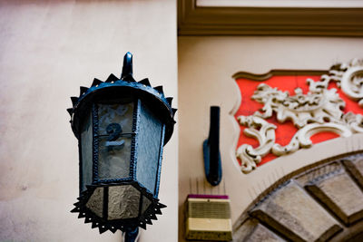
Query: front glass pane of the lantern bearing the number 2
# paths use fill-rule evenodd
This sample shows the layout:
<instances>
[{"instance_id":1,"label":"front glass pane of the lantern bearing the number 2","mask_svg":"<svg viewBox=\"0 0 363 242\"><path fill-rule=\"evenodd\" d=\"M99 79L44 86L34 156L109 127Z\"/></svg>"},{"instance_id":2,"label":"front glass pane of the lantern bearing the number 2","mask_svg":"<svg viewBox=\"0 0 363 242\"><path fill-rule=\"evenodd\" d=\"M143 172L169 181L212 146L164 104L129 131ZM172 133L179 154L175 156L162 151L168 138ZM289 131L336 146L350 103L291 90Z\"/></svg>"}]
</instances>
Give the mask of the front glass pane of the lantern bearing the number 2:
<instances>
[{"instance_id":1,"label":"front glass pane of the lantern bearing the number 2","mask_svg":"<svg viewBox=\"0 0 363 242\"><path fill-rule=\"evenodd\" d=\"M130 176L133 102L99 104L98 179Z\"/></svg>"}]
</instances>

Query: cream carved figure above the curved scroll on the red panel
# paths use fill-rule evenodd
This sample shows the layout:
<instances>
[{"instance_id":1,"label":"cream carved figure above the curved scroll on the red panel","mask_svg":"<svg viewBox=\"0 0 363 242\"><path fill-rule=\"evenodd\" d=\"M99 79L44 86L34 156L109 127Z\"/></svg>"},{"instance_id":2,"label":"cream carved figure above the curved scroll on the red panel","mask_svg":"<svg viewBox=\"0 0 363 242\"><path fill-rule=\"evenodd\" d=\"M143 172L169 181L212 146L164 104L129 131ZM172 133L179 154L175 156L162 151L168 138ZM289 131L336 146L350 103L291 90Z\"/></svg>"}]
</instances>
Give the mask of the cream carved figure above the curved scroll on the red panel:
<instances>
[{"instance_id":1,"label":"cream carved figure above the curved scroll on the red panel","mask_svg":"<svg viewBox=\"0 0 363 242\"><path fill-rule=\"evenodd\" d=\"M311 122L338 122L345 106L336 89L310 89L308 94L303 94L297 88L295 95L290 96L289 92L281 92L264 83L259 85L252 99L264 104L262 112L256 111L255 116L267 119L275 112L278 121L290 120L298 128Z\"/></svg>"}]
</instances>

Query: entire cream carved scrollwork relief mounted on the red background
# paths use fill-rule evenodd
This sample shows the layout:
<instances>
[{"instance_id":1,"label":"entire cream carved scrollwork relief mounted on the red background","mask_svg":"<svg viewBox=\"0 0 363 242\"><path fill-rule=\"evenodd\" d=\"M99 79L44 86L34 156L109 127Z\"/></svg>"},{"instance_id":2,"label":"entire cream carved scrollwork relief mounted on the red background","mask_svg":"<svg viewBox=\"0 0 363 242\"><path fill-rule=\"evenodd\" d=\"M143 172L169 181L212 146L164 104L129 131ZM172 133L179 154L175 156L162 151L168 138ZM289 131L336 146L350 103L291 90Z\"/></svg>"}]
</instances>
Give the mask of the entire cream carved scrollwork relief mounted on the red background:
<instances>
[{"instance_id":1,"label":"entire cream carved scrollwork relief mounted on the red background","mask_svg":"<svg viewBox=\"0 0 363 242\"><path fill-rule=\"evenodd\" d=\"M312 145L310 137L316 133L330 131L341 137L363 132L363 116L351 111L344 113L345 102L337 89L330 88L329 82L336 82L348 98L363 107L363 60L333 65L329 74L324 74L318 82L307 80L309 92L303 94L300 88L294 95L281 92L261 83L251 97L264 106L250 116L239 116L240 125L246 126L244 134L260 142L259 147L241 145L236 156L241 160L241 170L249 173L270 152L282 156ZM277 127L266 119L276 114L279 122L292 121L299 129L286 146L276 142Z\"/></svg>"}]
</instances>

